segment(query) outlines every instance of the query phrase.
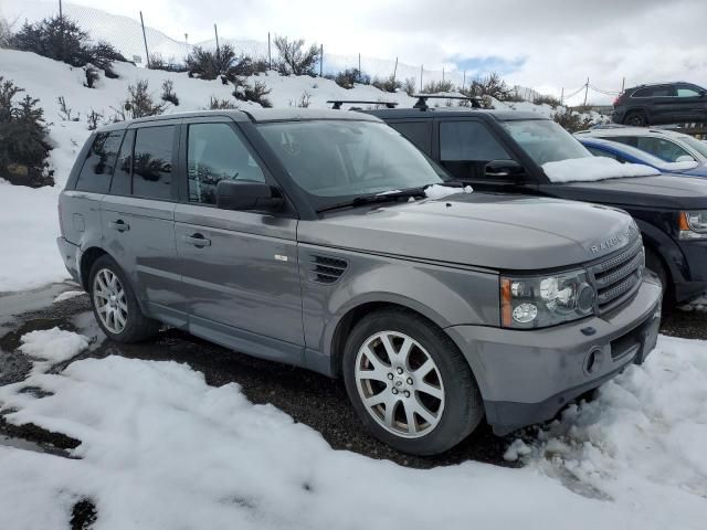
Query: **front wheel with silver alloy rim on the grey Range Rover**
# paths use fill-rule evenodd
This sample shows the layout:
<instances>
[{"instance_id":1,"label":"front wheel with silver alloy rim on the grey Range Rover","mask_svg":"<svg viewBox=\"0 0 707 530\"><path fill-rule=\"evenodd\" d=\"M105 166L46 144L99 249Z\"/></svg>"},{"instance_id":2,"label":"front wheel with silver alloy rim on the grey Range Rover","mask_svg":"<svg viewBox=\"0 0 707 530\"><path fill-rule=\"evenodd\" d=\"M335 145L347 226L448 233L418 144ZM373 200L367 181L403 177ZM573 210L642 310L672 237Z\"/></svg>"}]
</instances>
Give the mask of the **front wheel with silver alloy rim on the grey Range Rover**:
<instances>
[{"instance_id":1,"label":"front wheel with silver alloy rim on the grey Range Rover","mask_svg":"<svg viewBox=\"0 0 707 530\"><path fill-rule=\"evenodd\" d=\"M376 311L351 331L346 390L367 430L409 454L443 453L484 417L468 363L452 339L404 309Z\"/></svg>"}]
</instances>

